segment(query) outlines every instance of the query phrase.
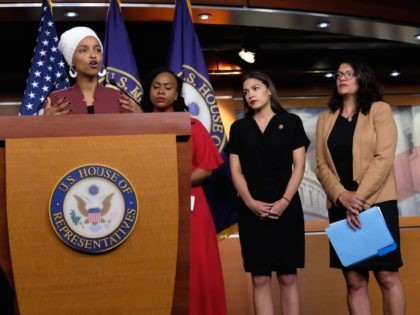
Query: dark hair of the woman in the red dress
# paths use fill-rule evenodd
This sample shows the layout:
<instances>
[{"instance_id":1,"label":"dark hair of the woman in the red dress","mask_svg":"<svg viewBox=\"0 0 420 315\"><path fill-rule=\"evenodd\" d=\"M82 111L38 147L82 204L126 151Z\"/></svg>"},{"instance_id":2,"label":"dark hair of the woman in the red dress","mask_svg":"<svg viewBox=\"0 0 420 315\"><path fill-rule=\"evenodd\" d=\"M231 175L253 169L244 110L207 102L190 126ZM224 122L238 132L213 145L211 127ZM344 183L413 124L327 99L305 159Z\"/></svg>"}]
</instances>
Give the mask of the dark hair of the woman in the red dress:
<instances>
[{"instance_id":1,"label":"dark hair of the woman in the red dress","mask_svg":"<svg viewBox=\"0 0 420 315\"><path fill-rule=\"evenodd\" d=\"M150 101L150 88L152 87L153 80L161 73L169 73L171 74L176 80L176 87L178 92L178 97L175 100L172 107L174 108L175 112L186 112L188 111L187 105L185 105L185 100L182 97L182 80L169 68L161 67L154 69L147 77L146 84L144 85L144 94L141 100L141 108L143 112L150 113L153 112L153 104Z\"/></svg>"}]
</instances>

